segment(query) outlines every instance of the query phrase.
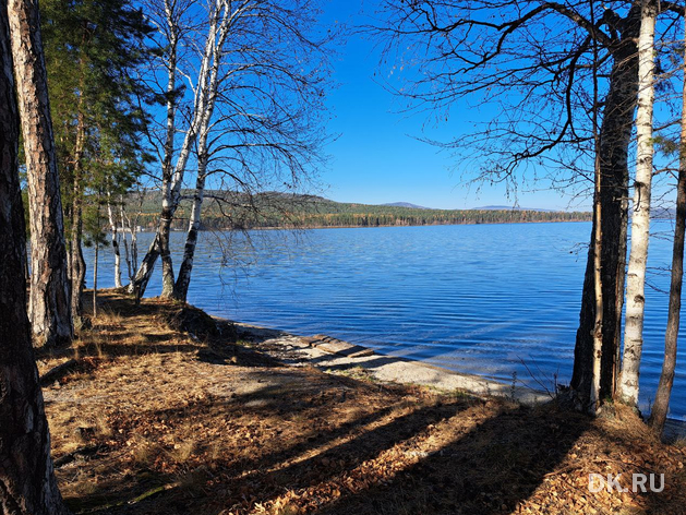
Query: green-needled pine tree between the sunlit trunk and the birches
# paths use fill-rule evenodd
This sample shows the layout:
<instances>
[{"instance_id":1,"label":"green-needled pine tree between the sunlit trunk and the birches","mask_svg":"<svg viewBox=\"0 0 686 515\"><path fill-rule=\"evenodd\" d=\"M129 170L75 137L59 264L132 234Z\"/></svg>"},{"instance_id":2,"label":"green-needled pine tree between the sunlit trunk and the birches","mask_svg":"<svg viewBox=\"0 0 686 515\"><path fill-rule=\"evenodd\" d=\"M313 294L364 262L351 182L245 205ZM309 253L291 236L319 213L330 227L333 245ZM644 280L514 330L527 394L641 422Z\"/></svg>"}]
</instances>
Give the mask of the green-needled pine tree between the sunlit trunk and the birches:
<instances>
[{"instance_id":1,"label":"green-needled pine tree between the sunlit trunk and the birches","mask_svg":"<svg viewBox=\"0 0 686 515\"><path fill-rule=\"evenodd\" d=\"M45 38L56 141L68 200L72 310L85 284L82 241L89 193L125 190L144 166L143 14L124 0L46 0Z\"/></svg>"}]
</instances>

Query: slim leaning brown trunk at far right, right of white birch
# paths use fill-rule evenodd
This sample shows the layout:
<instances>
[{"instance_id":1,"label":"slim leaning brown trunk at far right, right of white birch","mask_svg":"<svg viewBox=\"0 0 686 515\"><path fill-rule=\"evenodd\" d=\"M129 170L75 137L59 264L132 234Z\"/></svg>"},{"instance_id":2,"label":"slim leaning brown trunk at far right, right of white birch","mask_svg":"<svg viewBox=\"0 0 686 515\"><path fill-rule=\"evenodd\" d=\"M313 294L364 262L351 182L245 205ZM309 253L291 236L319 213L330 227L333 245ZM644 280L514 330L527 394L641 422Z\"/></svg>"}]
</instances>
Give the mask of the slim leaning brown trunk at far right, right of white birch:
<instances>
[{"instance_id":1,"label":"slim leaning brown trunk at far right, right of white birch","mask_svg":"<svg viewBox=\"0 0 686 515\"><path fill-rule=\"evenodd\" d=\"M685 33L686 34L686 33ZM672 283L670 285L670 311L664 333L664 361L655 402L650 412L650 426L662 434L670 408L676 348L682 310L682 286L684 282L684 232L686 231L686 50L684 52L684 89L682 92L682 134L679 145L678 182L676 184L676 220L674 224L674 248L672 251Z\"/></svg>"}]
</instances>

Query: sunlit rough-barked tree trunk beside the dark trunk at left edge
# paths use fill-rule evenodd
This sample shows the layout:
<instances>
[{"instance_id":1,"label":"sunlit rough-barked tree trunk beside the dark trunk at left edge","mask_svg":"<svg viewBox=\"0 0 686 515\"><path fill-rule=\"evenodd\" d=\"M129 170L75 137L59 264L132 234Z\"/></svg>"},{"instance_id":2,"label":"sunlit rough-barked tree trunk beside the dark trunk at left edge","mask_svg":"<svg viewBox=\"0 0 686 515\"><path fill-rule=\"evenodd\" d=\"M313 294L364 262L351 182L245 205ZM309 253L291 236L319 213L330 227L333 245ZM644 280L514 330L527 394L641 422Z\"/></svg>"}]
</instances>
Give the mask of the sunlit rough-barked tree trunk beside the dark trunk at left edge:
<instances>
[{"instance_id":1,"label":"sunlit rough-barked tree trunk beside the dark trunk at left edge","mask_svg":"<svg viewBox=\"0 0 686 515\"><path fill-rule=\"evenodd\" d=\"M70 283L48 83L35 0L9 0L14 71L24 134L31 217L31 298L34 345L73 337Z\"/></svg>"}]
</instances>

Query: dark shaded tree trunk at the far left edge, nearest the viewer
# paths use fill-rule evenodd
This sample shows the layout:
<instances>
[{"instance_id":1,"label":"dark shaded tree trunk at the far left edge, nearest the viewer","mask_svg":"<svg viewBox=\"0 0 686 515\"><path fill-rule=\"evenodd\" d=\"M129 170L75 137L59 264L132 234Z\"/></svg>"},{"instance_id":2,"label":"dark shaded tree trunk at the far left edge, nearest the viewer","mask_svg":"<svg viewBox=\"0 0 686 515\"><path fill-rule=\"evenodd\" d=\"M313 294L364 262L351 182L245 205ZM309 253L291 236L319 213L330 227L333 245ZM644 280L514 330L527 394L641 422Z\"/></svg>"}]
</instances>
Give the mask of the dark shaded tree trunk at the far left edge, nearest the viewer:
<instances>
[{"instance_id":1,"label":"dark shaded tree trunk at the far left edge, nearest the viewer","mask_svg":"<svg viewBox=\"0 0 686 515\"><path fill-rule=\"evenodd\" d=\"M0 248L3 258L0 260L0 335L2 335L0 345L0 420L2 420L0 423L0 513L61 515L69 512L62 503L52 472L50 434L26 316L26 284L24 282L26 232L19 183L19 116L11 56L7 2L2 1L0 3L0 205L2 206ZM22 76L21 73L19 75ZM32 86L27 85L27 87ZM55 202L55 199L52 201ZM63 298L67 297L63 296Z\"/></svg>"}]
</instances>

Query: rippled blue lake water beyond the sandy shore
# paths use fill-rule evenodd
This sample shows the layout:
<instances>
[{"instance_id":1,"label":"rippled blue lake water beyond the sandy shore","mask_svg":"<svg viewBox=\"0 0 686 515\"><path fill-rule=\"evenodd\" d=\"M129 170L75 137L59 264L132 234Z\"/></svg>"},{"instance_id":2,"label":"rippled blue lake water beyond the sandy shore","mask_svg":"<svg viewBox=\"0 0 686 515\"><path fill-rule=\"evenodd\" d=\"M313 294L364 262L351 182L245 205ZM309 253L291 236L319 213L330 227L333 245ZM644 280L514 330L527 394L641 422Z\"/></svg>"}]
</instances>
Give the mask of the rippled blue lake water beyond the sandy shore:
<instances>
[{"instance_id":1,"label":"rippled blue lake water beyond the sandy shore","mask_svg":"<svg viewBox=\"0 0 686 515\"><path fill-rule=\"evenodd\" d=\"M670 278L658 268L672 252L664 238L672 224L653 229L649 282L664 291L647 289L643 408L664 345ZM253 231L250 240L207 232L189 301L241 322L324 333L504 382L516 374L552 391L571 374L589 235L588 223ZM177 266L184 237L172 235ZM140 235L141 254L151 238ZM113 286L112 261L105 249L101 287ZM157 270L147 295L159 294L159 280ZM684 345L678 363L671 416L686 419Z\"/></svg>"}]
</instances>

